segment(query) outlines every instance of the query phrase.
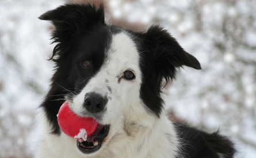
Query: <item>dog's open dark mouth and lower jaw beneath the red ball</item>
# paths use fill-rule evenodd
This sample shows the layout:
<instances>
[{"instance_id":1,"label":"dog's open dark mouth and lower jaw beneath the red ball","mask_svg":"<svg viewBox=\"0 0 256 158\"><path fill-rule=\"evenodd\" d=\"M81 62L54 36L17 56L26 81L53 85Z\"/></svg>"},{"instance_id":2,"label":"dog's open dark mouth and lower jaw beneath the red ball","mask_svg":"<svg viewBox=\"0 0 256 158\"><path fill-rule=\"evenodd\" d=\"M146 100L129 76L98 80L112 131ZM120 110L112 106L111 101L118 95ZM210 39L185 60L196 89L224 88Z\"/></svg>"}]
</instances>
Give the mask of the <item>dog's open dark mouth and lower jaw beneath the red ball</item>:
<instances>
[{"instance_id":1,"label":"dog's open dark mouth and lower jaw beneath the red ball","mask_svg":"<svg viewBox=\"0 0 256 158\"><path fill-rule=\"evenodd\" d=\"M98 125L98 128L93 134L87 137L84 141L82 138L77 140L77 147L79 151L85 154L93 153L101 148L102 142L108 136L110 125Z\"/></svg>"}]
</instances>

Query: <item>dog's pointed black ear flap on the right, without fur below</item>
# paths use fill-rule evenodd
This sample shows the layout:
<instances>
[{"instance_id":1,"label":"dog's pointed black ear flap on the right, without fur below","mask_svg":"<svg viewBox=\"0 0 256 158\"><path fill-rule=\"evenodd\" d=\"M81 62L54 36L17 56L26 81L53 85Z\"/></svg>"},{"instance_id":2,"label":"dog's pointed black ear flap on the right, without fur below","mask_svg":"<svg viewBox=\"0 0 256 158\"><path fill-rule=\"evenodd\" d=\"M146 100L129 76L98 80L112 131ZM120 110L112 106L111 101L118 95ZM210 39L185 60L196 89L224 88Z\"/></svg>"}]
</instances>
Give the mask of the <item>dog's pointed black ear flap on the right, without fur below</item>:
<instances>
[{"instance_id":1,"label":"dog's pointed black ear flap on the right, without fur below","mask_svg":"<svg viewBox=\"0 0 256 158\"><path fill-rule=\"evenodd\" d=\"M158 25L151 26L144 35L145 42L151 50L154 69L167 81L175 78L176 69L188 66L201 69L199 61L178 44L167 30Z\"/></svg>"}]
</instances>

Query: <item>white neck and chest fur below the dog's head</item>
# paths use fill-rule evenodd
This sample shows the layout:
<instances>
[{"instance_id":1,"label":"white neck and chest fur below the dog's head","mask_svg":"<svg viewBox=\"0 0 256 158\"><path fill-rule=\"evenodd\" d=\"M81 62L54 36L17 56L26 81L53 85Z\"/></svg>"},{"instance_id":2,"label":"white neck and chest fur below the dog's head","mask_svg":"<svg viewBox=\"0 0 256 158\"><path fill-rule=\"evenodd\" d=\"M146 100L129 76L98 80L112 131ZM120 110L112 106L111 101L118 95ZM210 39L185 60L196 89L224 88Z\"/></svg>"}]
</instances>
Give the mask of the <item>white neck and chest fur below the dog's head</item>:
<instances>
[{"instance_id":1,"label":"white neck and chest fur below the dog's head","mask_svg":"<svg viewBox=\"0 0 256 158\"><path fill-rule=\"evenodd\" d=\"M45 116L44 116L45 118ZM51 131L46 119L44 133ZM48 132L47 132L48 131ZM36 157L175 157L178 137L173 124L165 113L160 118L148 114L142 101L136 99L125 107L119 119L112 122L108 136L99 151L83 154L76 146L76 139L53 134L44 135ZM59 152L56 152L59 151Z\"/></svg>"}]
</instances>

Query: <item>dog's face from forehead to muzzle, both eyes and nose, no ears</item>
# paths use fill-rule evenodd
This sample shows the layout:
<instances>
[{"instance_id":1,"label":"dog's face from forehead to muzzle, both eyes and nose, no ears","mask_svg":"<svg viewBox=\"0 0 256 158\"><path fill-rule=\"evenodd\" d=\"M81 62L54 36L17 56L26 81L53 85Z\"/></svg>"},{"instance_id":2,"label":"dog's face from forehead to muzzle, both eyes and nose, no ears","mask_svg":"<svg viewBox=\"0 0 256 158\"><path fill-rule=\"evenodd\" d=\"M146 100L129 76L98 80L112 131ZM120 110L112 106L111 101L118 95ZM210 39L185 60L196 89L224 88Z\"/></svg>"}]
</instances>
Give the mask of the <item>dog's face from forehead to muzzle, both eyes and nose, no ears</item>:
<instances>
[{"instance_id":1,"label":"dog's face from forehead to muzzle, both eyes and nose, no ears","mask_svg":"<svg viewBox=\"0 0 256 158\"><path fill-rule=\"evenodd\" d=\"M75 113L89 115L105 125L111 124L125 105L139 99L142 79L139 53L131 37L124 32L104 31L108 33L105 44L99 44L102 38L91 41L89 37L78 48L73 67L77 71L74 82L78 91L70 102ZM90 50L95 43L98 50Z\"/></svg>"}]
</instances>

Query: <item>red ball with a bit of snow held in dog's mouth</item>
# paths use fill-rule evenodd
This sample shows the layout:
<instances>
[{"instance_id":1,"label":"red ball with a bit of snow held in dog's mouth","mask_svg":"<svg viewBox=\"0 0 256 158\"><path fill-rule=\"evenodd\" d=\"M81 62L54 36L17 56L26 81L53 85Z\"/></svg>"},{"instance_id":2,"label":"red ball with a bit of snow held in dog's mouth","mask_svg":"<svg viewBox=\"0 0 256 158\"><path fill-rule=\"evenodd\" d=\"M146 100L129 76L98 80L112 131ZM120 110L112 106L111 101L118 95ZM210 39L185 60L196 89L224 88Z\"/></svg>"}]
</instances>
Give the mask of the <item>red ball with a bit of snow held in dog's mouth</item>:
<instances>
[{"instance_id":1,"label":"red ball with a bit of snow held in dog's mouth","mask_svg":"<svg viewBox=\"0 0 256 158\"><path fill-rule=\"evenodd\" d=\"M98 128L98 122L91 117L81 117L70 109L68 102L64 102L59 109L58 123L60 129L72 138L82 138L86 141Z\"/></svg>"}]
</instances>

